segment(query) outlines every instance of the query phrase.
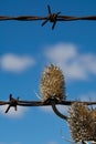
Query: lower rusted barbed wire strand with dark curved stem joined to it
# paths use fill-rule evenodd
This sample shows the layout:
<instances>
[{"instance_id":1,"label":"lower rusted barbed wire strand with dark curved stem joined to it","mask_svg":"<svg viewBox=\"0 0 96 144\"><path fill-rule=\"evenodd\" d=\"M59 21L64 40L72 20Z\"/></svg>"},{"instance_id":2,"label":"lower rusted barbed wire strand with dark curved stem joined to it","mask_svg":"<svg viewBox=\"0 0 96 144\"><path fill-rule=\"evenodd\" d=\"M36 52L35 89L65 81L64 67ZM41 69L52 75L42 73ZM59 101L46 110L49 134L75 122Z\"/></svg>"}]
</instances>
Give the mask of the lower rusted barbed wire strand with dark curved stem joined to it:
<instances>
[{"instance_id":1,"label":"lower rusted barbed wire strand with dark curved stem joined to it","mask_svg":"<svg viewBox=\"0 0 96 144\"><path fill-rule=\"evenodd\" d=\"M12 106L17 111L17 106L49 106L49 105L51 105L56 115L58 115L61 119L64 119L64 120L67 121L67 116L62 114L57 110L56 105L60 104L60 105L70 106L74 102L79 102L79 101L61 101L61 102L55 101L54 103L53 103L53 100L49 100L49 101L44 101L44 102L43 101L22 101L19 97L14 99L12 96L12 94L10 94L9 95L9 101L0 101L0 106L1 105L8 105L8 107L6 110L6 113L8 113L10 107L12 107ZM79 103L84 103L86 105L95 105L96 104L96 102L79 102Z\"/></svg>"}]
</instances>

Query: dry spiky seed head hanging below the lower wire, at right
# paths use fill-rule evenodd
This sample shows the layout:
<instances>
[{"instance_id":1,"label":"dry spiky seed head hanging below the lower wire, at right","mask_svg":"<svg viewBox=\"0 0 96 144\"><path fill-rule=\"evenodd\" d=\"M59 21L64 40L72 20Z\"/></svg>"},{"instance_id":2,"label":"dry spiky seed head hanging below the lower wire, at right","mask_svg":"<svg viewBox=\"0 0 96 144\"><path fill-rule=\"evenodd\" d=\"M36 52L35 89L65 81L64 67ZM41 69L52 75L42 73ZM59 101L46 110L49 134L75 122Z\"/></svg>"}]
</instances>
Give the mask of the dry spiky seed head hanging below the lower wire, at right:
<instances>
[{"instance_id":1,"label":"dry spiky seed head hanging below the lower wire, at right","mask_svg":"<svg viewBox=\"0 0 96 144\"><path fill-rule=\"evenodd\" d=\"M75 102L70 107L68 124L75 142L92 140L92 119L87 105Z\"/></svg>"}]
</instances>

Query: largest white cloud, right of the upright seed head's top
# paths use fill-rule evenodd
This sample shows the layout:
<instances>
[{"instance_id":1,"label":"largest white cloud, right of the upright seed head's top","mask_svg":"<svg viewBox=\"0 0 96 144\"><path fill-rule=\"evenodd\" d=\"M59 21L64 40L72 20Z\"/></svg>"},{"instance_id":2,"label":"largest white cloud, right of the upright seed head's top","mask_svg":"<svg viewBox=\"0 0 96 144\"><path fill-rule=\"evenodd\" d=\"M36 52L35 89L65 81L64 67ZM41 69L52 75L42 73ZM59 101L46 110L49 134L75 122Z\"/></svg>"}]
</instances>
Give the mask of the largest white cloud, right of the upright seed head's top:
<instances>
[{"instance_id":1,"label":"largest white cloud, right of the upright seed head's top","mask_svg":"<svg viewBox=\"0 0 96 144\"><path fill-rule=\"evenodd\" d=\"M65 79L86 80L96 75L96 54L79 53L75 44L58 43L45 51L49 62L57 64L64 71Z\"/></svg>"}]
</instances>

